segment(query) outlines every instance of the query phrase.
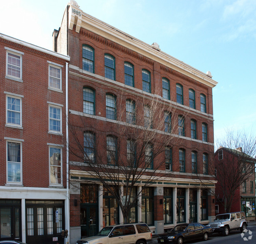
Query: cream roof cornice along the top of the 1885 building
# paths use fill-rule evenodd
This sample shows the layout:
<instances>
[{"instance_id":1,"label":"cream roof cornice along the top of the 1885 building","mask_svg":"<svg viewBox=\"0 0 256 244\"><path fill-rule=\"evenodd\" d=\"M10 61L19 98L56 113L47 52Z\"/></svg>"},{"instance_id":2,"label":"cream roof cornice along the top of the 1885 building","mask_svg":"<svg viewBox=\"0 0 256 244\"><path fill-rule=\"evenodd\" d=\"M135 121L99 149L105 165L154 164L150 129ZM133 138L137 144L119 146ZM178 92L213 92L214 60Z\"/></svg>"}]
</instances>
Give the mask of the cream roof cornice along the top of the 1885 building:
<instances>
[{"instance_id":1,"label":"cream roof cornice along the top of the 1885 building","mask_svg":"<svg viewBox=\"0 0 256 244\"><path fill-rule=\"evenodd\" d=\"M69 9L69 21L72 19L72 24L70 25L69 22L69 26L71 28L73 24L79 25L79 28L76 29L77 32L80 31L80 27L83 27L84 29L92 31L93 33L116 42L121 46L127 47L128 49L131 49L137 53L140 53L141 55L155 60L156 62L159 62L160 64L163 64L170 69L193 78L194 80L197 80L206 86L212 88L217 85L217 82L211 79L211 76L207 76L202 71L199 71L198 69L189 66L188 64L174 58L173 56L168 55L160 49L156 49L151 45L148 45L145 42L142 42L141 40L138 40L135 37L130 36L109 24L106 24L105 22L91 15L88 15L87 13L84 13L81 9L71 5L70 3L69 5L71 6ZM81 16L74 14L72 9L76 9L78 11L77 13L80 12Z\"/></svg>"}]
</instances>

